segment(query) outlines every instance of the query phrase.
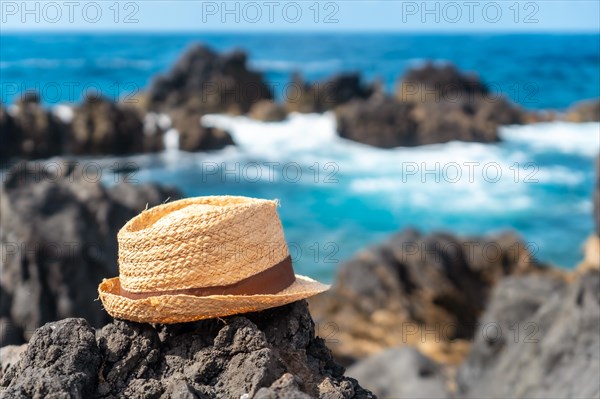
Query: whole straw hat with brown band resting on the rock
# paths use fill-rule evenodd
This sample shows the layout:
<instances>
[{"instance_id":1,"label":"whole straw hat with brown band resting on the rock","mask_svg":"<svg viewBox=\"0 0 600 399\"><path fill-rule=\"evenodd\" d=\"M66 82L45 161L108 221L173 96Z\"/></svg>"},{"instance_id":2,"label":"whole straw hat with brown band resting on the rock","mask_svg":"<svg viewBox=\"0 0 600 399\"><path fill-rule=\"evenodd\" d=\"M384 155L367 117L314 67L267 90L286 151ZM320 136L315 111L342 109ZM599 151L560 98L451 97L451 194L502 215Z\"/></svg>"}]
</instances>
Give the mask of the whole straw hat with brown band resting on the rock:
<instances>
[{"instance_id":1,"label":"whole straw hat with brown band resting on the rock","mask_svg":"<svg viewBox=\"0 0 600 399\"><path fill-rule=\"evenodd\" d=\"M329 288L295 275L277 202L188 198L131 219L117 236L119 277L98 287L113 317L181 323L255 312Z\"/></svg>"}]
</instances>

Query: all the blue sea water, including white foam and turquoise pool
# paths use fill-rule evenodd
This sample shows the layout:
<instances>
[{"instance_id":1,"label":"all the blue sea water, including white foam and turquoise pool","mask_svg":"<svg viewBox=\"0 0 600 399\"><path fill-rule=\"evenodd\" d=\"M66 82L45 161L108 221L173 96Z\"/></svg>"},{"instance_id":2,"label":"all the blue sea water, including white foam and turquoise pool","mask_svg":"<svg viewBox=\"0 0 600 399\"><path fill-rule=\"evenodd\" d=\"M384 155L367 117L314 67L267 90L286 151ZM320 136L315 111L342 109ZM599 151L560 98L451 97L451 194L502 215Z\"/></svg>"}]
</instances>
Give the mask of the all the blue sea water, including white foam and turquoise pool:
<instances>
[{"instance_id":1,"label":"all the blue sea water, including white foam and turquoise pool","mask_svg":"<svg viewBox=\"0 0 600 399\"><path fill-rule=\"evenodd\" d=\"M275 89L296 70L309 79L355 70L393 90L406 68L434 59L477 71L528 108L600 97L597 35L52 34L2 35L2 101L18 95L15 85L54 89L44 96L48 106L78 101L77 88L86 85L124 100L194 41L246 49ZM383 150L337 137L330 113L292 114L280 123L208 115L202 122L229 130L237 147L118 161L141 166L132 180L173 184L188 196L279 199L297 271L312 277L330 281L341 262L406 227L462 235L516 230L540 260L572 268L594 229L598 123L507 126L498 144Z\"/></svg>"}]
</instances>

